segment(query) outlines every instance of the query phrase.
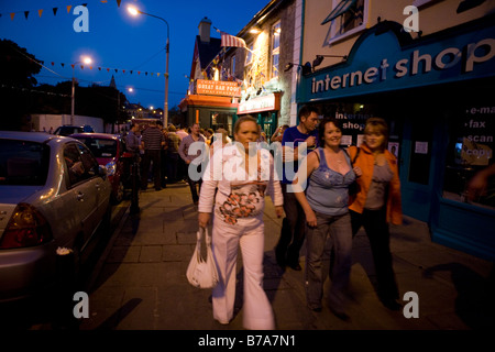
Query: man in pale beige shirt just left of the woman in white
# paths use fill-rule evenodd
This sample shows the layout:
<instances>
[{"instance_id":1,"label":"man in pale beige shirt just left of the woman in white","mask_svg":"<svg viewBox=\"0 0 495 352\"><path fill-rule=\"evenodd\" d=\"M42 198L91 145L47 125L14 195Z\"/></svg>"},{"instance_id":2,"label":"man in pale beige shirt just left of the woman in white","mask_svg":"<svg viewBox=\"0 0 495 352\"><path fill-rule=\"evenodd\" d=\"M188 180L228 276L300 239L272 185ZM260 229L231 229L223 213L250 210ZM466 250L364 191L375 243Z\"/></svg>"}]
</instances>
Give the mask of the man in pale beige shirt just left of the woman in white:
<instances>
[{"instance_id":1,"label":"man in pale beige shirt just left of the woman in white","mask_svg":"<svg viewBox=\"0 0 495 352\"><path fill-rule=\"evenodd\" d=\"M180 145L179 145L179 155L180 155L180 158L186 164L186 177L187 177L186 179L187 179L187 183L189 184L190 194L193 196L193 202L195 205L198 205L198 200L199 200L198 194L201 191L202 179L201 179L201 177L199 177L199 179L197 179L197 180L191 178L191 175L189 175L189 173L190 173L189 165L193 164L193 167L196 167L197 172L199 174L201 174L202 173L202 170L201 170L202 157L207 157L207 155L204 155L206 153L205 150L202 150L202 151L198 150L196 154L189 153L190 145L196 142L204 143L204 147L206 147L205 139L199 134L199 123L193 124L190 134L188 136L184 138L180 141ZM197 188L199 188L199 189L197 189Z\"/></svg>"}]
</instances>

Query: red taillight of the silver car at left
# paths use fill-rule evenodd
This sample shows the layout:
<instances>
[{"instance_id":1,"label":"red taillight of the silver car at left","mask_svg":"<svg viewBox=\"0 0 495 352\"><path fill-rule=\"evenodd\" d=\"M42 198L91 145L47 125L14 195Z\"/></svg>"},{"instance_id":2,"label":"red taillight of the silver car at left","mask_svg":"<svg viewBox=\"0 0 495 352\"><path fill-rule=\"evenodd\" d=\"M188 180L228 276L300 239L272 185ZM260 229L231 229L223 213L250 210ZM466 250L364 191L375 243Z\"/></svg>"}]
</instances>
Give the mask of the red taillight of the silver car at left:
<instances>
[{"instance_id":1,"label":"red taillight of the silver car at left","mask_svg":"<svg viewBox=\"0 0 495 352\"><path fill-rule=\"evenodd\" d=\"M0 250L38 245L52 239L46 219L34 207L20 204L0 239Z\"/></svg>"}]
</instances>

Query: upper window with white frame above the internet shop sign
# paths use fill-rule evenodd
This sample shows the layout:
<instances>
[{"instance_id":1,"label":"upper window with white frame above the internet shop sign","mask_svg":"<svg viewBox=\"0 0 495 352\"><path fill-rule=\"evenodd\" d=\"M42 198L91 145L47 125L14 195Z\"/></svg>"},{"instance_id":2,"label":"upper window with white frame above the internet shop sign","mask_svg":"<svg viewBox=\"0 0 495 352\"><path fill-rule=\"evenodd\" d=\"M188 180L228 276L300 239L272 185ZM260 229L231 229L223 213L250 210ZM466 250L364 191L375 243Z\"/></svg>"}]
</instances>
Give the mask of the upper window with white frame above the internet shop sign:
<instances>
[{"instance_id":1,"label":"upper window with white frame above the internet shop sign","mask_svg":"<svg viewBox=\"0 0 495 352\"><path fill-rule=\"evenodd\" d=\"M369 0L332 0L333 10L321 24L330 22L327 43L340 41L366 28Z\"/></svg>"}]
</instances>

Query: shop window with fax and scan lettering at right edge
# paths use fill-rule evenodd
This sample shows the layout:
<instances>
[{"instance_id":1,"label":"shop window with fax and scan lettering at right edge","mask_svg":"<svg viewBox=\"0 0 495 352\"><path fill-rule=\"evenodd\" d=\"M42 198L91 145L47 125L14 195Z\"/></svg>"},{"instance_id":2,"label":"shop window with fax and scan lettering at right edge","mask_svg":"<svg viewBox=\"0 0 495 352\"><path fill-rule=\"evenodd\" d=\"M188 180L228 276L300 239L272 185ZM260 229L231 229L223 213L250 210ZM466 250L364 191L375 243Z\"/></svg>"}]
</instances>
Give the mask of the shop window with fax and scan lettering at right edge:
<instances>
[{"instance_id":1,"label":"shop window with fax and scan lettering at right edge","mask_svg":"<svg viewBox=\"0 0 495 352\"><path fill-rule=\"evenodd\" d=\"M480 193L469 193L468 185L481 170L493 164L495 107L468 107L451 123L447 154L443 198L495 208L495 176Z\"/></svg>"}]
</instances>

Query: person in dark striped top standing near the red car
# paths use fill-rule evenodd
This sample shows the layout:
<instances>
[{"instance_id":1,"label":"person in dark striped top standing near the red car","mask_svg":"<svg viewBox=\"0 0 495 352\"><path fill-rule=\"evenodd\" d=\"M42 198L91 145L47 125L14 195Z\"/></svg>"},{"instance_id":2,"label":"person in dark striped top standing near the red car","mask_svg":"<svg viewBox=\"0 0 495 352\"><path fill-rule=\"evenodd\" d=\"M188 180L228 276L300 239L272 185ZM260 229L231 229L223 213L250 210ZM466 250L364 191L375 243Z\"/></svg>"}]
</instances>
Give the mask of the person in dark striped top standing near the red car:
<instances>
[{"instance_id":1,"label":"person in dark striped top standing near the red car","mask_svg":"<svg viewBox=\"0 0 495 352\"><path fill-rule=\"evenodd\" d=\"M162 130L156 122L151 122L146 130L143 131L141 139L141 145L144 150L141 190L147 189L147 176L150 173L150 166L153 163L153 182L155 190L162 190L161 179L161 153L162 147L165 144Z\"/></svg>"}]
</instances>

